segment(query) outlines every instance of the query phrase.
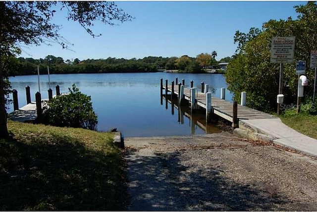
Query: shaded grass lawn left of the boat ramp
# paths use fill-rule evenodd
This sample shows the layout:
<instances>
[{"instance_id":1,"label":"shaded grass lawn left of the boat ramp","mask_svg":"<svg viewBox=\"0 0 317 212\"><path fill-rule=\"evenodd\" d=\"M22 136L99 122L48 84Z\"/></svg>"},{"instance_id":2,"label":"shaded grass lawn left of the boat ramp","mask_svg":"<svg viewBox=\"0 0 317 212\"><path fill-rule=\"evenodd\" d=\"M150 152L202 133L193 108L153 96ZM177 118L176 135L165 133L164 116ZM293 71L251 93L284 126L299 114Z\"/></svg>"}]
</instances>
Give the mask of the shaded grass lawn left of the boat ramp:
<instances>
[{"instance_id":1,"label":"shaded grass lawn left of the boat ramp","mask_svg":"<svg viewBox=\"0 0 317 212\"><path fill-rule=\"evenodd\" d=\"M124 210L125 176L113 134L8 122L0 139L0 211Z\"/></svg>"}]
</instances>

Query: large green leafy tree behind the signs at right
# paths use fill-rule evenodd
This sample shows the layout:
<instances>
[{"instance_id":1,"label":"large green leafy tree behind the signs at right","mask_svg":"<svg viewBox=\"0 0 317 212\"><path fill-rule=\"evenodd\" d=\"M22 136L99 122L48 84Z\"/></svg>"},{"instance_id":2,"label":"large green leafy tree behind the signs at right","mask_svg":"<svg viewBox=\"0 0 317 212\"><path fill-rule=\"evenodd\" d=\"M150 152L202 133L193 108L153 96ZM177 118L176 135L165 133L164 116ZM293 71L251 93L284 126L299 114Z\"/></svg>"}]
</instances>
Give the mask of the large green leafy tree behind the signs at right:
<instances>
[{"instance_id":1,"label":"large green leafy tree behind the signs at right","mask_svg":"<svg viewBox=\"0 0 317 212\"><path fill-rule=\"evenodd\" d=\"M266 112L275 111L279 84L279 64L270 63L272 37L296 37L295 58L291 64L284 64L283 94L284 103L296 102L297 80L295 61L306 60L306 75L314 79L309 68L310 51L317 48L317 5L308 2L295 6L299 13L297 20L269 20L263 28L251 28L249 33L236 32L234 42L238 43L237 53L227 66L226 82L228 89L239 101L240 92L248 93L247 105ZM311 83L306 94L313 92Z\"/></svg>"}]
</instances>

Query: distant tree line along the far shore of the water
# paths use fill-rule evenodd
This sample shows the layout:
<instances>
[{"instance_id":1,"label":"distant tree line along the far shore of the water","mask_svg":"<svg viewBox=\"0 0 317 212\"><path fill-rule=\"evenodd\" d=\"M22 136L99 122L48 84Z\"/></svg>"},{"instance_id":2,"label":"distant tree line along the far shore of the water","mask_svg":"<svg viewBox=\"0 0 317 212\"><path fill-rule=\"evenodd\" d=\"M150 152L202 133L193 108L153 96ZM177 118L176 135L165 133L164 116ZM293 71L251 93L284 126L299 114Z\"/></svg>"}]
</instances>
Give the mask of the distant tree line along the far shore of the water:
<instances>
[{"instance_id":1,"label":"distant tree line along the far shore of the water","mask_svg":"<svg viewBox=\"0 0 317 212\"><path fill-rule=\"evenodd\" d=\"M125 59L108 57L106 59L64 60L60 56L47 55L45 58L16 57L10 60L9 76L37 74L39 65L40 73L124 73L124 72L155 72L159 69L179 70L180 72L199 73L206 68L217 68L219 62L228 62L231 57L216 61L216 52L213 54L201 53L197 57L183 55L181 57L147 56L142 59Z\"/></svg>"}]
</instances>

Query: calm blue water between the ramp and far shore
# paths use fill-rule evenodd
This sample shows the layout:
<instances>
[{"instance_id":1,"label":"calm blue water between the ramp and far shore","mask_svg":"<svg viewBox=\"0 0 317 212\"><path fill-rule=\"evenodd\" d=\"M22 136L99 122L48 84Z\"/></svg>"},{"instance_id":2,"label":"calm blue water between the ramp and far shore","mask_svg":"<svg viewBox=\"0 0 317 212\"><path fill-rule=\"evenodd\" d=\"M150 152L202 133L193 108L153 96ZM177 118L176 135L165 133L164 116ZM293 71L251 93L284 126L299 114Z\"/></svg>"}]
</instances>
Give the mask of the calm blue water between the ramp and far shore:
<instances>
[{"instance_id":1,"label":"calm blue water between the ramp and far shore","mask_svg":"<svg viewBox=\"0 0 317 212\"><path fill-rule=\"evenodd\" d=\"M190 135L218 132L213 125L202 126L205 115L195 113L190 119L190 111L168 103L165 99L160 104L160 78L168 79L169 84L178 77L185 79L185 87L194 81L194 87L200 89L204 81L214 89L216 97L220 96L220 88L227 87L221 74L180 74L180 73L107 73L107 74L53 74L50 75L53 95L55 86L60 86L60 92L66 93L73 83L84 94L91 96L93 107L98 115L98 130L107 131L117 128L124 137L135 136L166 136ZM40 76L42 99L48 98L49 80L47 75ZM10 77L12 89L18 91L19 107L26 105L25 87L31 88L31 99L35 101L38 91L38 76ZM165 83L165 81L164 81ZM231 101L232 95L226 91L226 100ZM8 112L12 111L12 107ZM172 111L173 110L173 111ZM174 113L174 114L172 114ZM182 114L181 120L179 114ZM187 116L186 116L187 115Z\"/></svg>"}]
</instances>

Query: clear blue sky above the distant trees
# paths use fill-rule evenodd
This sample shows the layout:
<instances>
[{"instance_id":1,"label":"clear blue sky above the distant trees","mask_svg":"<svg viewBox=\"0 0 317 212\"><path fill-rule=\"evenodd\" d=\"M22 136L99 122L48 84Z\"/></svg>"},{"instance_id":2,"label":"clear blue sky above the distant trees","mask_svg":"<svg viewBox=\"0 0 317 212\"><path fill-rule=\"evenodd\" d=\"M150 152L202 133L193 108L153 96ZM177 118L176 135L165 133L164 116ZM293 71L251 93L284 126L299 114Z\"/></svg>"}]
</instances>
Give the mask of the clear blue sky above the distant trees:
<instances>
[{"instance_id":1,"label":"clear blue sky above the distant trees","mask_svg":"<svg viewBox=\"0 0 317 212\"><path fill-rule=\"evenodd\" d=\"M116 1L135 17L131 22L109 26L96 23L92 38L78 23L57 12L54 23L72 43L73 51L53 46L23 47L20 56L44 58L51 54L66 59L143 58L145 56L192 57L217 52L219 60L235 53L234 34L262 28L270 19L297 18L294 5L306 1Z\"/></svg>"}]
</instances>

